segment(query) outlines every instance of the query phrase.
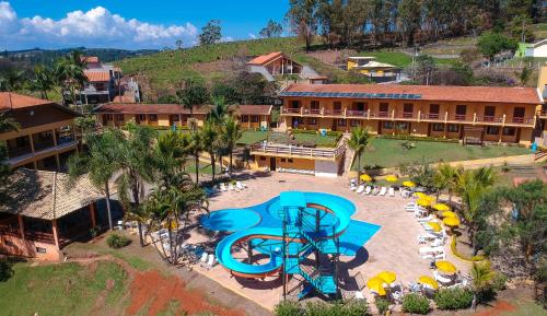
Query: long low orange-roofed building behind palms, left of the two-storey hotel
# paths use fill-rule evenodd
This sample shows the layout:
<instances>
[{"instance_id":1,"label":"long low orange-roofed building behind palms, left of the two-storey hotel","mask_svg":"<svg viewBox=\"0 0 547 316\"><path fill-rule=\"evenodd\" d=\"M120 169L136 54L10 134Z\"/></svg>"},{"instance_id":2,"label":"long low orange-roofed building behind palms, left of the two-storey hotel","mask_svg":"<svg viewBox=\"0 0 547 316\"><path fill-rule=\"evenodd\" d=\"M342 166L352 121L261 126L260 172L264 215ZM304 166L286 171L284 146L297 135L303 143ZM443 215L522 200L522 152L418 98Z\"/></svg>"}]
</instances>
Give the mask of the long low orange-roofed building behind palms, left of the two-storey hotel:
<instances>
[{"instance_id":1,"label":"long low orange-roofed building behind palms, left of the two-storey hotel","mask_svg":"<svg viewBox=\"0 0 547 316\"><path fill-rule=\"evenodd\" d=\"M271 122L271 105L238 105L231 109L240 117L243 128L268 129ZM191 113L178 104L120 104L97 106L94 113L103 126L124 126L130 120L154 127L188 127L190 121L202 126L211 106L194 106Z\"/></svg>"}]
</instances>

